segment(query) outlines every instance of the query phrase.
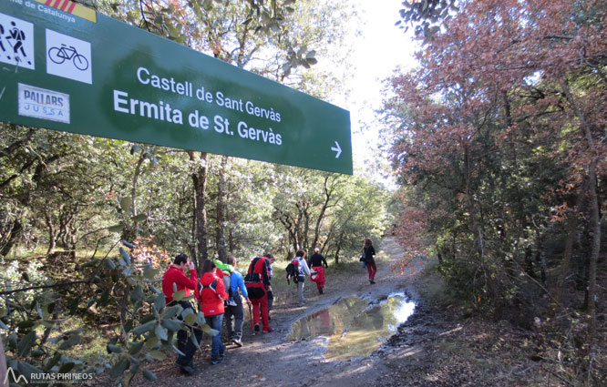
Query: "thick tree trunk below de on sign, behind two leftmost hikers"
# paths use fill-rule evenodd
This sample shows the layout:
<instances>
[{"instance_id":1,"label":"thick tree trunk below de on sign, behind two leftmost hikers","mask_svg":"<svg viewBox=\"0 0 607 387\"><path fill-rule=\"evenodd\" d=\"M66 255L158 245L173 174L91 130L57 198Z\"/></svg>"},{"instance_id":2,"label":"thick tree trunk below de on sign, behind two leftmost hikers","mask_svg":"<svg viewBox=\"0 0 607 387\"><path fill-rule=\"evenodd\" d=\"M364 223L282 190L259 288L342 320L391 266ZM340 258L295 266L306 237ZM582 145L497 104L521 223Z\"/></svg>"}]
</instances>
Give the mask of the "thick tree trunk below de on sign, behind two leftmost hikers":
<instances>
[{"instance_id":1,"label":"thick tree trunk below de on sign, behind two leftmost hikers","mask_svg":"<svg viewBox=\"0 0 607 387\"><path fill-rule=\"evenodd\" d=\"M198 269L202 268L202 261L209 258L209 247L208 247L208 235L207 235L207 201L206 201L206 188L207 188L207 173L209 167L207 160L209 155L205 152L201 152L201 158L196 159L194 152L188 152L190 160L198 161L198 170L191 174L193 186L194 186L194 198L196 200L196 206L194 208L194 219L196 222L196 240L198 242Z\"/></svg>"}]
</instances>

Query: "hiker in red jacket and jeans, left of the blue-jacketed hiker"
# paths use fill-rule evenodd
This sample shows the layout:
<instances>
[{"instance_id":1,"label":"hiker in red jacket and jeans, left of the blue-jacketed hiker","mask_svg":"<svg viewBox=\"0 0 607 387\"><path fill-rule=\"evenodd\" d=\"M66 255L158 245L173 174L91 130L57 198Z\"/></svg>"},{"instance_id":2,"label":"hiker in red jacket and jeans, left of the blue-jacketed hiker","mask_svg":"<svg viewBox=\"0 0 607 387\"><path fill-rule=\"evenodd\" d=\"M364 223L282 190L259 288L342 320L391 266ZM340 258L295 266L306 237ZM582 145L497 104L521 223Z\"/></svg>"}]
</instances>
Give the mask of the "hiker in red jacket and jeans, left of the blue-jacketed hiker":
<instances>
[{"instance_id":1,"label":"hiker in red jacket and jeans, left of the blue-jacketed hiker","mask_svg":"<svg viewBox=\"0 0 607 387\"><path fill-rule=\"evenodd\" d=\"M223 300L228 299L223 280L215 274L215 264L205 260L202 264L201 281L198 284L198 300L201 312L212 329L219 333L211 339L211 364L218 364L225 356L225 345L221 343L221 325L223 325Z\"/></svg>"}]
</instances>

